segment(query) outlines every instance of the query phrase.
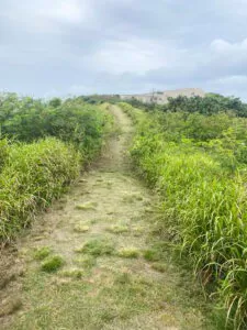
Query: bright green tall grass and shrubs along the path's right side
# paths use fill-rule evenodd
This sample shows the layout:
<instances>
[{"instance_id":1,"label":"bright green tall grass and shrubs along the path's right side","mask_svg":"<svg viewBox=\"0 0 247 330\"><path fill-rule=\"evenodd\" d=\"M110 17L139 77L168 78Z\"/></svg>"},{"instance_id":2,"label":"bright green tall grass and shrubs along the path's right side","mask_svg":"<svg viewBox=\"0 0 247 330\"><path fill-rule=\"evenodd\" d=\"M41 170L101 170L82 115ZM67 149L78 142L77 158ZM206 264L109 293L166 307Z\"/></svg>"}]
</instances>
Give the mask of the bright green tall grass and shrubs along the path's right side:
<instances>
[{"instance_id":1,"label":"bright green tall grass and shrubs along the path's right side","mask_svg":"<svg viewBox=\"0 0 247 330\"><path fill-rule=\"evenodd\" d=\"M160 194L161 232L190 256L236 329L247 322L246 124L225 112L153 112L131 151Z\"/></svg>"}]
</instances>

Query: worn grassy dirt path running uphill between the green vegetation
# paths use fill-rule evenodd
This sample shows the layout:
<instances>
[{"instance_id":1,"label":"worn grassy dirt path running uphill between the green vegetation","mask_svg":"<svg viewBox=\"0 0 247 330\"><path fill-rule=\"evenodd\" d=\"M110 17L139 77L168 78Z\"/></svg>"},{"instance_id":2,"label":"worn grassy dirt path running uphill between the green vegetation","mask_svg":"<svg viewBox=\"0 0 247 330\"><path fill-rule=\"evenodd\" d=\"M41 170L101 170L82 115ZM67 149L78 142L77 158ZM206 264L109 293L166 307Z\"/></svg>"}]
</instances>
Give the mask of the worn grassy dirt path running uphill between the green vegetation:
<instances>
[{"instance_id":1,"label":"worn grassy dirt path running uphill between the green vegetation","mask_svg":"<svg viewBox=\"0 0 247 330\"><path fill-rule=\"evenodd\" d=\"M0 329L207 329L197 286L149 240L155 199L128 165L130 119L111 111L122 132L9 256Z\"/></svg>"}]
</instances>

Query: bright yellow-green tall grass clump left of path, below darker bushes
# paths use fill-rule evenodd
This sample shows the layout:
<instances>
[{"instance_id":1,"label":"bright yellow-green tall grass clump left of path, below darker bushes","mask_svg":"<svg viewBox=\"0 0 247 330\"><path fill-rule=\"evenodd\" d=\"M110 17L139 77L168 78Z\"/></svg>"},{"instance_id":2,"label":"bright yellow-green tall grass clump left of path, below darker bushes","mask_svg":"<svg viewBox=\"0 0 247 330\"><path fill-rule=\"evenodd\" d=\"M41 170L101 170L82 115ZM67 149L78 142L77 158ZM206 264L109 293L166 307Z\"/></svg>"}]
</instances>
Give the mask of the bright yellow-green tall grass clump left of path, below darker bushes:
<instances>
[{"instance_id":1,"label":"bright yellow-green tall grass clump left of path, below darker bushes","mask_svg":"<svg viewBox=\"0 0 247 330\"><path fill-rule=\"evenodd\" d=\"M10 146L0 174L0 240L8 241L29 226L80 168L81 155L75 147L54 138Z\"/></svg>"}]
</instances>

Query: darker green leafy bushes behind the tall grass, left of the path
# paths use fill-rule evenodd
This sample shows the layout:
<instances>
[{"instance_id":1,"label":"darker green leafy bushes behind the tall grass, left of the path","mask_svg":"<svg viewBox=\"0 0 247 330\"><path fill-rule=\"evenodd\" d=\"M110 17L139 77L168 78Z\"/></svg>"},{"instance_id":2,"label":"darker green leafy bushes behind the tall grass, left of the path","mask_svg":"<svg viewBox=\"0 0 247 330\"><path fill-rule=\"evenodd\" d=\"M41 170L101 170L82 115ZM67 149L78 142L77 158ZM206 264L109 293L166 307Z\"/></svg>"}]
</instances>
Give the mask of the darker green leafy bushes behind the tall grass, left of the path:
<instances>
[{"instance_id":1,"label":"darker green leafy bushes behind the tall grass, left of the path","mask_svg":"<svg viewBox=\"0 0 247 330\"><path fill-rule=\"evenodd\" d=\"M0 97L1 135L24 142L56 136L74 143L88 158L99 151L105 113L81 98L53 99L49 102L15 94Z\"/></svg>"}]
</instances>

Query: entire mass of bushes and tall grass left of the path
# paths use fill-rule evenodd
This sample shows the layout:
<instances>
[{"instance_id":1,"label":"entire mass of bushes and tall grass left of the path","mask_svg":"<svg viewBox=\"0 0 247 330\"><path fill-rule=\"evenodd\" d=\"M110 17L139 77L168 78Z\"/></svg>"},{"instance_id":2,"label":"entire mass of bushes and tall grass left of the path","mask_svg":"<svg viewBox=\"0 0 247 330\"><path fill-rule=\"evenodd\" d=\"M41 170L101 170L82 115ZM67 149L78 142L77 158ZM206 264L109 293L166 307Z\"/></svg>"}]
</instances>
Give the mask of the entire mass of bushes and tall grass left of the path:
<instances>
[{"instance_id":1,"label":"entire mass of bushes and tall grass left of the path","mask_svg":"<svg viewBox=\"0 0 247 330\"><path fill-rule=\"evenodd\" d=\"M81 98L0 96L0 241L58 198L99 152L110 122L105 113Z\"/></svg>"}]
</instances>

